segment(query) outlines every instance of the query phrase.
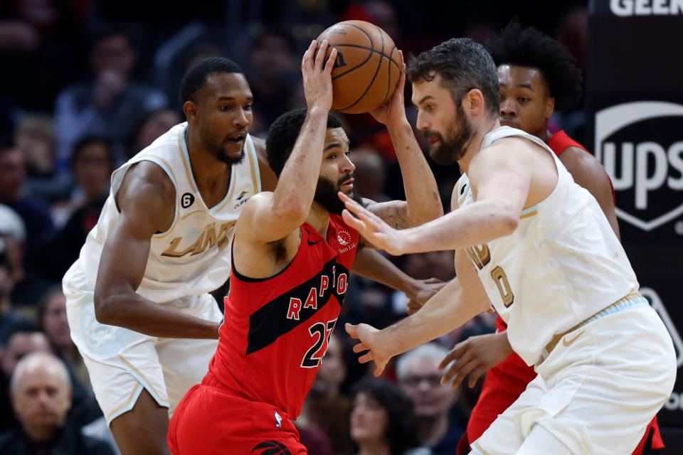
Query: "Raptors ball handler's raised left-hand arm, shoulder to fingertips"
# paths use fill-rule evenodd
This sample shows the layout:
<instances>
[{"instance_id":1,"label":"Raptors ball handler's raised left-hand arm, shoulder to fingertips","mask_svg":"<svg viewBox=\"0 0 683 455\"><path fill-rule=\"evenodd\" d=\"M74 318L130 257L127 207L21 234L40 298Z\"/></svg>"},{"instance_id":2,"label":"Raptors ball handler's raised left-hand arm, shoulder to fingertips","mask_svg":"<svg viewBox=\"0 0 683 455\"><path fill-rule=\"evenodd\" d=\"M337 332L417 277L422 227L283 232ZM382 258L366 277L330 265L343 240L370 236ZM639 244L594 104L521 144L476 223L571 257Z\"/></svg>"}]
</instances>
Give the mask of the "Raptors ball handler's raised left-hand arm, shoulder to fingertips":
<instances>
[{"instance_id":1,"label":"Raptors ball handler's raised left-hand arm, shoulder to fingertips","mask_svg":"<svg viewBox=\"0 0 683 455\"><path fill-rule=\"evenodd\" d=\"M327 114L332 107L332 67L337 50L324 60L327 41L316 53L313 41L304 54L301 69L308 111L301 132L277 187L260 193L245 204L235 235L260 242L275 242L305 222L315 194L327 131Z\"/></svg>"}]
</instances>

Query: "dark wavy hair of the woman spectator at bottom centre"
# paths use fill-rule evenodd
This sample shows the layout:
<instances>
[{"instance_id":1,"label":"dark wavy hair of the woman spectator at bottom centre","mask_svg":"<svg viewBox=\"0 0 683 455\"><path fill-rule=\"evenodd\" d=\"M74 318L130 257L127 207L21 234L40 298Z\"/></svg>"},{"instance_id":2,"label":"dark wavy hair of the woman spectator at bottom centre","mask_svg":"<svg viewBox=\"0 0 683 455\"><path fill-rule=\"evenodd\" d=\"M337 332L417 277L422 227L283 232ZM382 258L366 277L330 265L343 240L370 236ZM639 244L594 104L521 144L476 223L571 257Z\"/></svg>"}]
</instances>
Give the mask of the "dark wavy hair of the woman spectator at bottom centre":
<instances>
[{"instance_id":1,"label":"dark wavy hair of the woman spectator at bottom centre","mask_svg":"<svg viewBox=\"0 0 683 455\"><path fill-rule=\"evenodd\" d=\"M351 400L359 393L369 395L386 410L389 422L384 437L392 454L403 454L408 449L420 446L413 402L401 387L387 380L366 378L353 388Z\"/></svg>"}]
</instances>

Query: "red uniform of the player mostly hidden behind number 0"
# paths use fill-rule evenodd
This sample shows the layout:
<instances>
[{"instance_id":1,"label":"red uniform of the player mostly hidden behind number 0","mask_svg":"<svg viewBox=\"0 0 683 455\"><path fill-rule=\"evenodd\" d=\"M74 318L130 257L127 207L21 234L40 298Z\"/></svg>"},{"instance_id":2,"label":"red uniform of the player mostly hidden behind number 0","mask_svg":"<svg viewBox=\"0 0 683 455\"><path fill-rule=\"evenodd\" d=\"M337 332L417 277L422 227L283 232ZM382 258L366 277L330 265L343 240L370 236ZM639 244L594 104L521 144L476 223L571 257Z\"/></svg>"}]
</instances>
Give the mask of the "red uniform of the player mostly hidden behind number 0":
<instances>
[{"instance_id":1,"label":"red uniform of the player mostly hidden behind number 0","mask_svg":"<svg viewBox=\"0 0 683 455\"><path fill-rule=\"evenodd\" d=\"M586 153L590 153L586 150L586 147L568 137L563 131L556 132L547 144L558 157L569 147L578 147L586 151ZM610 180L611 183L612 181ZM614 196L614 186L612 186L612 195ZM496 331L502 332L507 330L507 325L500 316L496 317L495 323ZM472 443L479 439L498 417L498 414L502 414L504 410L507 410L521 395L521 392L524 392L526 385L534 378L536 378L534 368L527 366L524 360L521 360L516 353L512 353L502 363L491 368L486 373L479 400L477 400L477 405L472 410L470 420L467 422L467 440ZM633 452L634 455L642 454L651 432L652 449L662 449L664 447L660 428L657 425L657 416L655 416L647 426L645 435Z\"/></svg>"}]
</instances>

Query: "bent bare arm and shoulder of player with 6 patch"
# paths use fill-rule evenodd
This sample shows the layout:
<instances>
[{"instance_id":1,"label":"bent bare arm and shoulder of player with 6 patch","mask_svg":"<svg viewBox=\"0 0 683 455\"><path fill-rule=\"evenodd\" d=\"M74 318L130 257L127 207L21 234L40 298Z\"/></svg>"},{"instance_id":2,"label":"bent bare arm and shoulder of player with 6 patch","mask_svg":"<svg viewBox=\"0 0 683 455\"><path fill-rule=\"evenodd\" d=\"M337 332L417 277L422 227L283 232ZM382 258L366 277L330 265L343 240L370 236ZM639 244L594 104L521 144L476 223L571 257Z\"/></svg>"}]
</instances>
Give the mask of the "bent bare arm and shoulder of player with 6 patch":
<instances>
[{"instance_id":1,"label":"bent bare arm and shoulder of player with 6 patch","mask_svg":"<svg viewBox=\"0 0 683 455\"><path fill-rule=\"evenodd\" d=\"M100 257L95 283L97 321L163 338L218 338L218 323L171 311L137 294L152 235L173 222L175 189L162 168L142 162L117 193L119 218Z\"/></svg>"}]
</instances>

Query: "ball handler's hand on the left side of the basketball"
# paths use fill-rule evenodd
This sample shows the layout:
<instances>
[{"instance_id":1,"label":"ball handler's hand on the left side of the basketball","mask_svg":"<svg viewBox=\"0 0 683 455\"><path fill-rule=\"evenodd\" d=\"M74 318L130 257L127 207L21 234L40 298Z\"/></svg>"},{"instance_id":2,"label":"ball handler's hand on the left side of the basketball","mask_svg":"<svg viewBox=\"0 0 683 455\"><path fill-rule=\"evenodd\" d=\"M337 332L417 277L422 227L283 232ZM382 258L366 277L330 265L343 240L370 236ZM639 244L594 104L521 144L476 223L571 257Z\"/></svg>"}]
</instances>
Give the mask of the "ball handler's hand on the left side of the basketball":
<instances>
[{"instance_id":1,"label":"ball handler's hand on the left side of the basketball","mask_svg":"<svg viewBox=\"0 0 683 455\"><path fill-rule=\"evenodd\" d=\"M332 68L337 59L337 49L332 49L326 62L329 43L323 40L316 50L317 45L317 41L312 41L301 60L304 95L308 109L318 107L329 111L332 108Z\"/></svg>"}]
</instances>

